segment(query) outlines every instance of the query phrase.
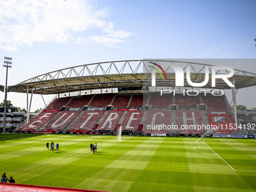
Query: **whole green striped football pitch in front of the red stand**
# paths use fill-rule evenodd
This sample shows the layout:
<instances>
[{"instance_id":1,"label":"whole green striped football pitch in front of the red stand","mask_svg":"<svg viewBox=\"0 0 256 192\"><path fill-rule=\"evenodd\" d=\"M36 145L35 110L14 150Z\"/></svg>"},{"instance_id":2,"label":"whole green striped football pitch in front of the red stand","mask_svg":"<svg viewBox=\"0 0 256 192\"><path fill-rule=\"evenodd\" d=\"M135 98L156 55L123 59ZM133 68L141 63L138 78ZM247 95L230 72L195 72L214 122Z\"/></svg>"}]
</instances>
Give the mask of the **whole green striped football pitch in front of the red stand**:
<instances>
[{"instance_id":1,"label":"whole green striped football pitch in front of the red stand","mask_svg":"<svg viewBox=\"0 0 256 192\"><path fill-rule=\"evenodd\" d=\"M256 140L197 139L0 134L0 174L21 184L92 190L256 190ZM60 151L47 150L47 142Z\"/></svg>"}]
</instances>

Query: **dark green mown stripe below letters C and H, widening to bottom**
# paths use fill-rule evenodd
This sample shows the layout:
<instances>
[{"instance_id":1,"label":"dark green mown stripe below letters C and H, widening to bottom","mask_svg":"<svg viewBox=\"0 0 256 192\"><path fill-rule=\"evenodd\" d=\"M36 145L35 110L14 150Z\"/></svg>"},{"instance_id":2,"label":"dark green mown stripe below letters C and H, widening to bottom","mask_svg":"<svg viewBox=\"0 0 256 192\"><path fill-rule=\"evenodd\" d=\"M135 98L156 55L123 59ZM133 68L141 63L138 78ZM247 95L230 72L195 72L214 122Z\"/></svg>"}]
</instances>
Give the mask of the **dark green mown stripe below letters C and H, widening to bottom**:
<instances>
[{"instance_id":1,"label":"dark green mown stripe below letters C and H, widening to bottom","mask_svg":"<svg viewBox=\"0 0 256 192\"><path fill-rule=\"evenodd\" d=\"M182 138L158 138L163 143L151 157L131 191L186 191L191 190L187 159L178 158L178 150L184 151ZM183 148L181 148L183 146Z\"/></svg>"}]
</instances>

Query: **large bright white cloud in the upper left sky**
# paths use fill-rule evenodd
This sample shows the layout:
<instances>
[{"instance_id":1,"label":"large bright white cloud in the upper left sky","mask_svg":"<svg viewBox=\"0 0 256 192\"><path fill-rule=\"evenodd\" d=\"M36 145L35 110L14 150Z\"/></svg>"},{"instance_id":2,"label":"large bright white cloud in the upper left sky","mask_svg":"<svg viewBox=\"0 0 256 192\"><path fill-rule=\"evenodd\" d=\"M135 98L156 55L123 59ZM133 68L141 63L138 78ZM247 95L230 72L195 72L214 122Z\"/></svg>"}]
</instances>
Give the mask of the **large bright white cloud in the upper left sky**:
<instances>
[{"instance_id":1,"label":"large bright white cloud in the upper left sky","mask_svg":"<svg viewBox=\"0 0 256 192\"><path fill-rule=\"evenodd\" d=\"M108 10L84 0L8 0L0 2L0 49L17 50L35 42L81 43L94 41L115 47L130 32L114 30L104 20ZM97 35L86 35L90 30ZM83 41L81 41L83 40Z\"/></svg>"}]
</instances>

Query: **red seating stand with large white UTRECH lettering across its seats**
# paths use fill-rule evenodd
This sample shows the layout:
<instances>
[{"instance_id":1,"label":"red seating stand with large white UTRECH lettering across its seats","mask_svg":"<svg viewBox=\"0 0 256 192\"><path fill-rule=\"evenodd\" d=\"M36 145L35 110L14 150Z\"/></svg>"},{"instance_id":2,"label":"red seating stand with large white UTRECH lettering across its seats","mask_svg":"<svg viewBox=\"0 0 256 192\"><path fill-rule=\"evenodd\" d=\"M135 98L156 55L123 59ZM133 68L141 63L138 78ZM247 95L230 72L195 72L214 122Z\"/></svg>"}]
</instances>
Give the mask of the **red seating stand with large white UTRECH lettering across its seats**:
<instances>
[{"instance_id":1,"label":"red seating stand with large white UTRECH lettering across its seats","mask_svg":"<svg viewBox=\"0 0 256 192\"><path fill-rule=\"evenodd\" d=\"M179 108L170 110L169 107L174 100ZM142 108L147 102L148 108ZM200 110L199 104L202 102L208 109ZM114 108L104 109L110 104ZM68 107L62 108L63 105ZM87 108L83 108L84 105L88 105ZM224 124L226 126L224 130L227 131L230 123L234 123L224 96L207 95L200 98L200 96L176 94L174 97L169 93L160 97L159 93L131 96L107 93L94 97L90 95L55 99L47 108L50 109L41 112L29 124L24 125L23 130L84 130L89 133L113 133L122 126L122 131L126 133L156 133L156 125L173 124L178 126L178 130L166 133L179 134L181 125ZM60 111L59 108L66 111ZM78 110L75 110L76 108ZM139 110L130 111L131 108L139 108ZM153 128L148 130L148 125L153 125ZM197 127L191 127L191 130L197 130Z\"/></svg>"}]
</instances>

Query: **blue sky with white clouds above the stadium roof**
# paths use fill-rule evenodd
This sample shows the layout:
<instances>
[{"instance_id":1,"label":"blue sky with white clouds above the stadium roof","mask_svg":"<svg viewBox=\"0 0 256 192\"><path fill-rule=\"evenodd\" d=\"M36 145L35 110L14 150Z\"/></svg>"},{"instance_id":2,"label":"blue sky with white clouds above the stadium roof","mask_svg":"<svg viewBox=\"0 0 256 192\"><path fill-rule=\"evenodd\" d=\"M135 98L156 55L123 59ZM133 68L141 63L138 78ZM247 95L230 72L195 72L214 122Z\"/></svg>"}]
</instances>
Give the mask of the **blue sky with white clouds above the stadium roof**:
<instances>
[{"instance_id":1,"label":"blue sky with white clouds above the stadium roof","mask_svg":"<svg viewBox=\"0 0 256 192\"><path fill-rule=\"evenodd\" d=\"M11 56L8 85L91 62L124 59L256 59L256 1L0 1L0 61ZM234 63L256 73L256 64ZM5 85L6 68L0 68ZM256 87L237 103L256 107ZM227 93L229 97L230 93ZM5 98L0 93L0 101ZM53 96L44 96L49 102ZM8 93L26 108L26 94ZM33 95L32 109L44 107Z\"/></svg>"}]
</instances>

